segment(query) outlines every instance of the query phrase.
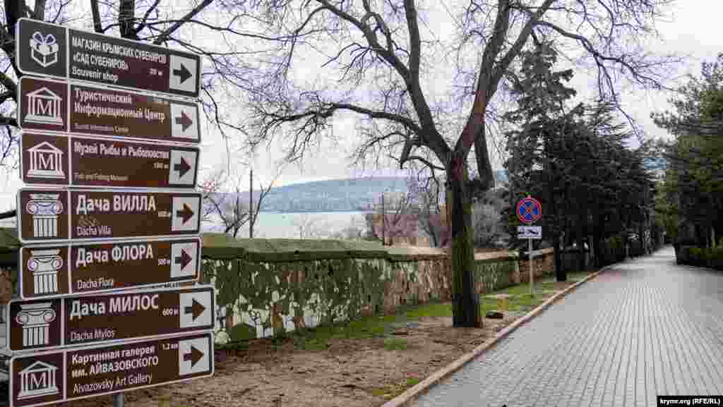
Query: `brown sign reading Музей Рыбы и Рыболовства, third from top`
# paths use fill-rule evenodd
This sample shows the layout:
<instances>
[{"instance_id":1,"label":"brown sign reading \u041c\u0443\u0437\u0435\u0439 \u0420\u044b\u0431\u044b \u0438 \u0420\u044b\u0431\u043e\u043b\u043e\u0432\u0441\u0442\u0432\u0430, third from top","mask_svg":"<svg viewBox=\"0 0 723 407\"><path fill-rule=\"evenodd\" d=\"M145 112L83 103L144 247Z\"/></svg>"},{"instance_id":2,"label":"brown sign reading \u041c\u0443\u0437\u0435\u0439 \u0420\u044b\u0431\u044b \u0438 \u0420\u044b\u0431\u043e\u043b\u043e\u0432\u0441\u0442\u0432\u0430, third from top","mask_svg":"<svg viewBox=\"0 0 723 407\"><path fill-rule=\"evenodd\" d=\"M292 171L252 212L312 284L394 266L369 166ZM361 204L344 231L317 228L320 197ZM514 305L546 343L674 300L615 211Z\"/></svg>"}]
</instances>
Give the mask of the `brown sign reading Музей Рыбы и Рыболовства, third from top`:
<instances>
[{"instance_id":1,"label":"brown sign reading \u041c\u0443\u0437\u0435\u0439 \u0420\u044b\u0431\u044b \u0438 \u0420\u044b\u0431\u043e\u043b\u043e\u0432\u0441\u0442\u0432\u0430, third from top","mask_svg":"<svg viewBox=\"0 0 723 407\"><path fill-rule=\"evenodd\" d=\"M193 188L197 147L23 132L25 184L72 187Z\"/></svg>"}]
</instances>

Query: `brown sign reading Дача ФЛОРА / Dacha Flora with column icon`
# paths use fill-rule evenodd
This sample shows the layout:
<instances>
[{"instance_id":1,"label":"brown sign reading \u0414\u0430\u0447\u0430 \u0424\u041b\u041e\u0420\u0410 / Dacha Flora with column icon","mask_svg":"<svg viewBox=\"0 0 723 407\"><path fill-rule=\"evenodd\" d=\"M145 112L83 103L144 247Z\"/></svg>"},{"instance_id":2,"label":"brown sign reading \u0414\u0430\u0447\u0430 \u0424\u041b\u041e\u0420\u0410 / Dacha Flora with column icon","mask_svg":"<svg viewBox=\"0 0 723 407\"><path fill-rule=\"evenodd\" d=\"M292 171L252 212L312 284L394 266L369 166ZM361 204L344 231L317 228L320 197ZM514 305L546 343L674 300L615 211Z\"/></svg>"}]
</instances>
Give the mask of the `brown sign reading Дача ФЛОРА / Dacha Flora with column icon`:
<instances>
[{"instance_id":1,"label":"brown sign reading \u0414\u0430\u0447\u0430 \u0424\u041b\u041e\u0420\u0410 / Dacha Flora with column icon","mask_svg":"<svg viewBox=\"0 0 723 407\"><path fill-rule=\"evenodd\" d=\"M197 280L201 240L160 239L20 249L20 296L90 294Z\"/></svg>"}]
</instances>

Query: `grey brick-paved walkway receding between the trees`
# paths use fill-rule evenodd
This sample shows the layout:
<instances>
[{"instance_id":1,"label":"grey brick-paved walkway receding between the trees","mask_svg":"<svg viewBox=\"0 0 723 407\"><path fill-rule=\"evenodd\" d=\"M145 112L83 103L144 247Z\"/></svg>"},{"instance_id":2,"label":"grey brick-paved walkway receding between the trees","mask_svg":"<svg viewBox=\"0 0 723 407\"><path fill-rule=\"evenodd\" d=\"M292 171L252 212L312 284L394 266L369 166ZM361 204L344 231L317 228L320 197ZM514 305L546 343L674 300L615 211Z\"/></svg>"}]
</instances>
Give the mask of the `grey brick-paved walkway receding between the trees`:
<instances>
[{"instance_id":1,"label":"grey brick-paved walkway receding between the trees","mask_svg":"<svg viewBox=\"0 0 723 407\"><path fill-rule=\"evenodd\" d=\"M415 407L656 406L723 394L723 274L672 247L584 283Z\"/></svg>"}]
</instances>

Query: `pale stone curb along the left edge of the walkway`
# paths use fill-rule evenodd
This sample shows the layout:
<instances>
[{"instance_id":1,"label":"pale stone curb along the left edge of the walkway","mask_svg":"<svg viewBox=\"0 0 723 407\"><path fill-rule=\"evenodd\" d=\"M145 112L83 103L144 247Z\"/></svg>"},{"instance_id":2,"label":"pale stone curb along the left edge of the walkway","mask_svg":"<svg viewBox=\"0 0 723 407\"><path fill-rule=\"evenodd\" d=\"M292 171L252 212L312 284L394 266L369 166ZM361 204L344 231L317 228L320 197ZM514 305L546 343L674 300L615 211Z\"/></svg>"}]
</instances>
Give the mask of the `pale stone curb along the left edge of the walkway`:
<instances>
[{"instance_id":1,"label":"pale stone curb along the left edge of the walkway","mask_svg":"<svg viewBox=\"0 0 723 407\"><path fill-rule=\"evenodd\" d=\"M495 335L495 337L493 337L492 340L489 340L489 342L482 343L482 345L477 346L471 352L460 356L457 360L453 361L452 363L448 364L445 367L442 367L442 369L437 370L437 372L433 373L426 379L422 380L422 382L417 383L413 387L407 389L401 395L398 395L397 397L384 403L381 407L406 407L406 406L408 406L409 403L416 400L416 398L419 398L420 395L427 393L427 390L429 390L431 387L434 387L435 385L437 385L437 383L441 382L443 379L448 377L450 374L457 372L459 369L464 367L464 365L466 365L470 361L476 359L478 356L484 354L484 352L487 351L487 349L495 346L497 344L497 342L499 342L501 339L505 338L506 336L510 335L510 333L513 333L514 330L516 330L518 327L523 325L525 322L528 322L532 318L536 317L538 314L540 314L545 309L547 309L547 307L552 305L555 301L557 301L558 299L562 299L562 297L564 297L565 295L570 293L570 291L573 291L578 286L581 286L583 283L586 283L586 281L596 278L598 275L600 275L604 271L608 270L612 266L613 265L608 265L606 267L602 267L600 270L596 271L595 273L592 273L591 275L588 275L586 278L583 278L582 280L578 281L577 283L574 283L572 286L565 288L565 290L560 291L559 293L555 294L554 296L549 297L549 299L545 300L542 304L539 304L535 309L532 309L530 312L523 315L523 317L518 318L518 320L515 320L510 325L508 325L504 329L500 330L500 332L497 333L497 335Z\"/></svg>"}]
</instances>

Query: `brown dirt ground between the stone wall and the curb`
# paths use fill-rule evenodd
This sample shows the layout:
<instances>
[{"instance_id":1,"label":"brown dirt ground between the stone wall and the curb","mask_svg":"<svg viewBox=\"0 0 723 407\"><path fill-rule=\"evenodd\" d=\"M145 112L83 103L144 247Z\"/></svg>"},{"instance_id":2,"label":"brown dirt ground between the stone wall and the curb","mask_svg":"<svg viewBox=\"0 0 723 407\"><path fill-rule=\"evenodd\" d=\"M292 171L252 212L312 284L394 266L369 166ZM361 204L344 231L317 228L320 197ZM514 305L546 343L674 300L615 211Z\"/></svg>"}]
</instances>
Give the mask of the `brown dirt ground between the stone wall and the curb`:
<instances>
[{"instance_id":1,"label":"brown dirt ground between the stone wall and the curb","mask_svg":"<svg viewBox=\"0 0 723 407\"><path fill-rule=\"evenodd\" d=\"M555 289L568 284L558 283ZM406 339L405 350L385 349L383 338L330 340L323 351L294 349L292 340L276 348L268 339L254 340L247 350L235 354L217 351L213 377L129 392L125 406L381 406L401 393L409 379L424 379L490 340L523 314L505 312L503 320L485 319L485 326L479 329L453 329L451 317L423 317L416 321L417 325L394 331L393 337ZM57 406L110 407L112 398L89 398Z\"/></svg>"}]
</instances>

